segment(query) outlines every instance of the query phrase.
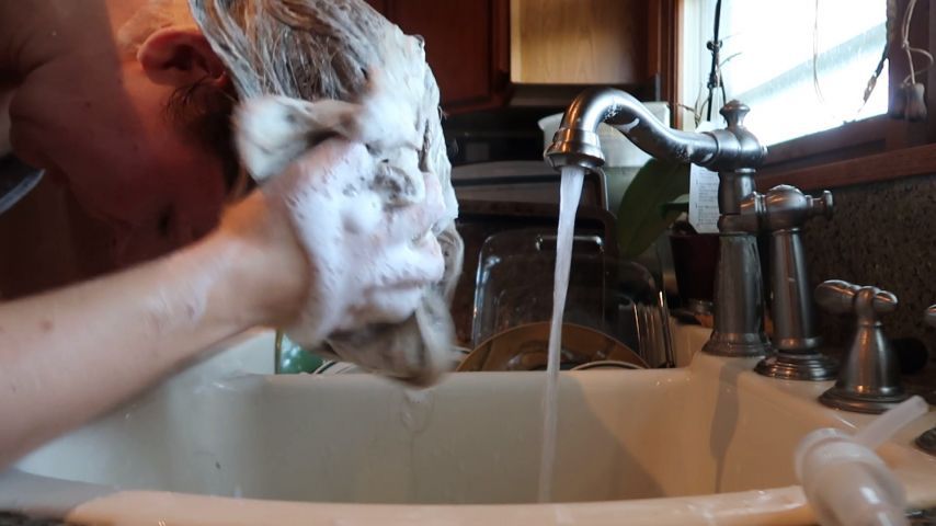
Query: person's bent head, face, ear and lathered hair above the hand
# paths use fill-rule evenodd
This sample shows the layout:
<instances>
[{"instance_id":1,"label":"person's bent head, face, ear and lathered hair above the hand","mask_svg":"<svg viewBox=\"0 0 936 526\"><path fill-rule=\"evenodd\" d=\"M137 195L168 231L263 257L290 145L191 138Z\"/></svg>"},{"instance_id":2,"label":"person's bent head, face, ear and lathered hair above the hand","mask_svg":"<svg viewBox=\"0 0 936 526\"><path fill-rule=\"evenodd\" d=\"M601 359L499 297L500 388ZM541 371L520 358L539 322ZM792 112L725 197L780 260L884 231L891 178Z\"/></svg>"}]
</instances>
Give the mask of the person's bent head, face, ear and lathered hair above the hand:
<instances>
[{"instance_id":1,"label":"person's bent head, face, ear and lathered hair above the hand","mask_svg":"<svg viewBox=\"0 0 936 526\"><path fill-rule=\"evenodd\" d=\"M14 151L119 227L119 263L216 225L238 179L230 129L238 99L355 100L368 71L392 71L403 89L429 93L414 108L421 162L447 182L431 72L424 61L419 71L387 64L421 42L363 0L191 3L42 4L36 34L49 37L32 46L34 67L15 87Z\"/></svg>"}]
</instances>

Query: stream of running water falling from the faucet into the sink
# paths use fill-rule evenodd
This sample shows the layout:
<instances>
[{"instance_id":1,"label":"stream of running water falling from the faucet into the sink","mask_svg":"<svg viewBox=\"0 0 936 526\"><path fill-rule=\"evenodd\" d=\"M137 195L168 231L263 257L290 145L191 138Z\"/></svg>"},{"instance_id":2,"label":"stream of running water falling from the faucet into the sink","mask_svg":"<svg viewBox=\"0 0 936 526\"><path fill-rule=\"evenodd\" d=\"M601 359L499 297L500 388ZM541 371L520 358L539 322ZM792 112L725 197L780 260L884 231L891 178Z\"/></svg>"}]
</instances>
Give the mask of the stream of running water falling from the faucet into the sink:
<instances>
[{"instance_id":1,"label":"stream of running water falling from the faucet into the sink","mask_svg":"<svg viewBox=\"0 0 936 526\"><path fill-rule=\"evenodd\" d=\"M557 395L559 382L559 355L562 343L562 312L569 290L569 266L572 262L572 239L575 230L575 210L582 195L584 169L562 167L559 194L559 233L556 240L556 275L552 289L552 319L549 325L549 361L546 369L546 395L543 399L543 450L539 457L539 502L552 498L552 467L556 456L556 430L559 422Z\"/></svg>"}]
</instances>

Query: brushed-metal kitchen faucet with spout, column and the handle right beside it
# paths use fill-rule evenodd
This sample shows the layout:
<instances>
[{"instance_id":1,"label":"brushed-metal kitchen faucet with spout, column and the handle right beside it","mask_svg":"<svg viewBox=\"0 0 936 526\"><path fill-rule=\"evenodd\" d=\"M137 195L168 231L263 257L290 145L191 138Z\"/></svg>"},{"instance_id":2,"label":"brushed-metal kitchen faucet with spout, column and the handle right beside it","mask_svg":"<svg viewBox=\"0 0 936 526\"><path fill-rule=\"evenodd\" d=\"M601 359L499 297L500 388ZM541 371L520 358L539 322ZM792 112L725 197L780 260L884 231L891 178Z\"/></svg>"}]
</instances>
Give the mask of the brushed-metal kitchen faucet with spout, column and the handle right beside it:
<instances>
[{"instance_id":1,"label":"brushed-metal kitchen faucet with spout, column and the handle right beside it","mask_svg":"<svg viewBox=\"0 0 936 526\"><path fill-rule=\"evenodd\" d=\"M752 206L758 203L763 205L763 198L758 201L760 194L754 191L753 176L755 169L764 161L767 149L744 127L747 112L746 105L730 101L720 112L728 123L726 128L704 133L681 132L659 122L637 99L620 90L592 88L582 92L566 111L552 144L544 153L547 162L557 170L567 165L595 170L604 164L596 130L601 123L605 123L653 157L693 162L718 172L720 218L714 298L715 328L703 350L720 356L761 356L773 351L764 332L764 290L757 251L757 233L764 228L762 224L768 217L767 214L773 214L771 218L783 215L801 221L813 215L806 208L814 207L818 213L822 213L826 201L831 210L831 196L815 203L799 199L806 207L802 213L789 209L775 213L769 207ZM790 194L786 190L784 193ZM797 198L796 195L791 197ZM777 220L774 219L774 222ZM776 258L789 255L786 251L777 252ZM789 279L808 282L804 266L787 265L787 268ZM810 302L809 295L804 298L798 294L775 295L774 309L789 312L774 312L774 317L794 321L811 318L811 309L794 312ZM815 373L815 361L812 358L818 354L815 347L819 338L812 333L814 323L796 322L785 327L790 328L790 333L785 335L784 341L808 342L809 345L803 350L783 350L783 345L780 348L791 352L795 358L801 354L808 359L791 359L784 367L763 367L764 370L758 368L758 371L798 379L834 377L834 367L822 361L820 368L829 366L830 370ZM806 368L809 370L806 374L798 370L801 362L808 363Z\"/></svg>"}]
</instances>

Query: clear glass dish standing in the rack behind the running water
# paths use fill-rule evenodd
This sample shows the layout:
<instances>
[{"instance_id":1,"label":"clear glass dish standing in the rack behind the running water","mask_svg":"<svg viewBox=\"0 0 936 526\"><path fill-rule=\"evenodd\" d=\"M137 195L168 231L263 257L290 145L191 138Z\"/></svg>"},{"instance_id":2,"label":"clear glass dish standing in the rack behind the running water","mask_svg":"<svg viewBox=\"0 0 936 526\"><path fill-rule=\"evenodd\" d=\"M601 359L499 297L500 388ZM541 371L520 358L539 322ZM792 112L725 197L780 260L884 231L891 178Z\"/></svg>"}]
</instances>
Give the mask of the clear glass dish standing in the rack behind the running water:
<instances>
[{"instance_id":1,"label":"clear glass dish standing in the rack behind the running water","mask_svg":"<svg viewBox=\"0 0 936 526\"><path fill-rule=\"evenodd\" d=\"M646 267L619 260L614 249L601 236L575 236L563 323L614 338L650 367L672 367L665 296ZM478 256L472 345L507 329L549 321L555 265L555 231L517 229L488 237Z\"/></svg>"}]
</instances>

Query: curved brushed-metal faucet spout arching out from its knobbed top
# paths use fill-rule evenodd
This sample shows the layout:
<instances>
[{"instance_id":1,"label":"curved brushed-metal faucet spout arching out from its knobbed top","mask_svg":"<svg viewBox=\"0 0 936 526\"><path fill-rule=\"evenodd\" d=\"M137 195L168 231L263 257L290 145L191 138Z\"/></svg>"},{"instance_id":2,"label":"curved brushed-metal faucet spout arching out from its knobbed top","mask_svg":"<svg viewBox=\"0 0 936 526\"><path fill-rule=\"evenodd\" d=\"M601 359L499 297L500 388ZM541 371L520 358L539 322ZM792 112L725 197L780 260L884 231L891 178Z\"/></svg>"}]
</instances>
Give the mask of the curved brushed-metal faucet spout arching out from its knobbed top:
<instances>
[{"instance_id":1,"label":"curved brushed-metal faucet spout arching out from its knobbed top","mask_svg":"<svg viewBox=\"0 0 936 526\"><path fill-rule=\"evenodd\" d=\"M727 129L701 134L681 132L658 121L637 99L620 90L591 88L575 98L566 111L544 157L557 169L571 164L592 170L603 165L597 129L600 124L606 123L659 159L718 170L760 165L766 157L766 148L742 124L747 107L731 101L721 112L729 123Z\"/></svg>"}]
</instances>

